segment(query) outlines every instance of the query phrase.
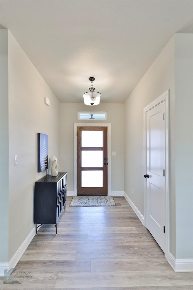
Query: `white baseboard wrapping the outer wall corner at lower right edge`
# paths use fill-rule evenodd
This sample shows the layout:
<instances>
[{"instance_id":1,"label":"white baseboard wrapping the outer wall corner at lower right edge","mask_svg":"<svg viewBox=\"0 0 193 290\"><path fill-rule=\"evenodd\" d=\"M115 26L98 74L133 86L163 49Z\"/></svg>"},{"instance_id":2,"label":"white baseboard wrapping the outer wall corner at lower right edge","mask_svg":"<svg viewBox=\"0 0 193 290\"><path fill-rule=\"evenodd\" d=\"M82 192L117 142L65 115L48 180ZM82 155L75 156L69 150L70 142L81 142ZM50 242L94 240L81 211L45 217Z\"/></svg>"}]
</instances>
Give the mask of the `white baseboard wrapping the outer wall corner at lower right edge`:
<instances>
[{"instance_id":1,"label":"white baseboard wrapping the outer wall corner at lower right edge","mask_svg":"<svg viewBox=\"0 0 193 290\"><path fill-rule=\"evenodd\" d=\"M176 259L169 252L168 263L175 272L193 272L193 259Z\"/></svg>"}]
</instances>

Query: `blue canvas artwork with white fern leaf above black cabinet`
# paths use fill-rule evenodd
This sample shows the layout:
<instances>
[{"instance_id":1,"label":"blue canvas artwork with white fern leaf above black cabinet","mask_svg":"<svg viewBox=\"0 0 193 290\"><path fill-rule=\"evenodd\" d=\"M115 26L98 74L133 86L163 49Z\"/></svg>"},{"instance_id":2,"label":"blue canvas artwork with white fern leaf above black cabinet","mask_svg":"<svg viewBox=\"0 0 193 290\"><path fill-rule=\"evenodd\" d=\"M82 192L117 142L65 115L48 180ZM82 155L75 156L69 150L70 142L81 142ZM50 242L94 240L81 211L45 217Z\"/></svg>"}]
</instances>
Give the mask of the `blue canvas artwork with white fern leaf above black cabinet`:
<instances>
[{"instance_id":1,"label":"blue canvas artwork with white fern leaf above black cabinet","mask_svg":"<svg viewBox=\"0 0 193 290\"><path fill-rule=\"evenodd\" d=\"M38 133L38 172L48 169L48 135Z\"/></svg>"}]
</instances>

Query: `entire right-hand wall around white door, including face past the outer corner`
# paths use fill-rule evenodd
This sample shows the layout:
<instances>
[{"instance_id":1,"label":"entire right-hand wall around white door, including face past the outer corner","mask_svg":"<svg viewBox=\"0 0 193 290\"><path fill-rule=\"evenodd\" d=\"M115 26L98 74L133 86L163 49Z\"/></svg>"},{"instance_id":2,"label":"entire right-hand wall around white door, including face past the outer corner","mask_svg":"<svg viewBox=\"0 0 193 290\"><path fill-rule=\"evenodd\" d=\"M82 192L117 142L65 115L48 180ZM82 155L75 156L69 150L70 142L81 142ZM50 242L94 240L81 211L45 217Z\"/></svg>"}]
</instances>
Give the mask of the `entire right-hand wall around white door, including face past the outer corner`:
<instances>
[{"instance_id":1,"label":"entire right-hand wall around white door, including face past the outer corner","mask_svg":"<svg viewBox=\"0 0 193 290\"><path fill-rule=\"evenodd\" d=\"M192 34L175 34L125 102L125 192L144 214L143 108L169 89L170 252L176 259L193 258L192 52Z\"/></svg>"}]
</instances>

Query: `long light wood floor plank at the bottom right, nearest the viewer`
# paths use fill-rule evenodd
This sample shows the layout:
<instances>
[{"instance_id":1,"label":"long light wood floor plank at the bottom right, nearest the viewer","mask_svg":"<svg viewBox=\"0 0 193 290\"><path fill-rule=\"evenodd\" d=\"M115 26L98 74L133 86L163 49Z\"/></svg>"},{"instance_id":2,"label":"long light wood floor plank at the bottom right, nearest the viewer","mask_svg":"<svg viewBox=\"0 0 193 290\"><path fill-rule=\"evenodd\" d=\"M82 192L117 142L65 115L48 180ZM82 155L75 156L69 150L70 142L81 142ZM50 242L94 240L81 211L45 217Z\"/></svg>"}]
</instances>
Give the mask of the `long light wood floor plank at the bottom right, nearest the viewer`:
<instances>
[{"instance_id":1,"label":"long light wood floor plank at the bottom right, nearest the viewer","mask_svg":"<svg viewBox=\"0 0 193 290\"><path fill-rule=\"evenodd\" d=\"M59 273L55 288L193 285L192 273L173 271Z\"/></svg>"}]
</instances>

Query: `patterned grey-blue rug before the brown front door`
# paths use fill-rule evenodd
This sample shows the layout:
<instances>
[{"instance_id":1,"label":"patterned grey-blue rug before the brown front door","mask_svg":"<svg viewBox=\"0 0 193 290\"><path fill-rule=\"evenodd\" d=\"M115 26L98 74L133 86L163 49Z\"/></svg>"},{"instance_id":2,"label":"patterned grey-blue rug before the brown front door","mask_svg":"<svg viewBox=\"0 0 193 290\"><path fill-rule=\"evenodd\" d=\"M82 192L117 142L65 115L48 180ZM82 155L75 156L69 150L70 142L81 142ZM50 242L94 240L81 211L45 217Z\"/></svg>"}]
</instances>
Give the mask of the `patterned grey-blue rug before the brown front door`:
<instances>
[{"instance_id":1,"label":"patterned grey-blue rug before the brown front door","mask_svg":"<svg viewBox=\"0 0 193 290\"><path fill-rule=\"evenodd\" d=\"M73 196L70 206L116 206L112 196Z\"/></svg>"}]
</instances>

